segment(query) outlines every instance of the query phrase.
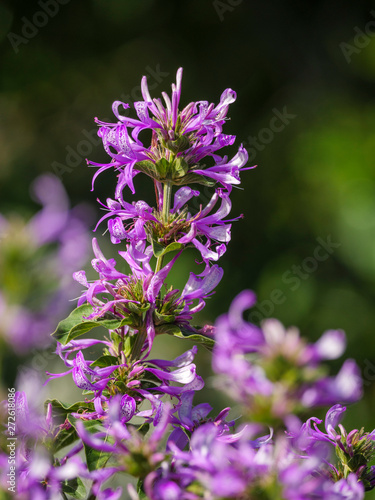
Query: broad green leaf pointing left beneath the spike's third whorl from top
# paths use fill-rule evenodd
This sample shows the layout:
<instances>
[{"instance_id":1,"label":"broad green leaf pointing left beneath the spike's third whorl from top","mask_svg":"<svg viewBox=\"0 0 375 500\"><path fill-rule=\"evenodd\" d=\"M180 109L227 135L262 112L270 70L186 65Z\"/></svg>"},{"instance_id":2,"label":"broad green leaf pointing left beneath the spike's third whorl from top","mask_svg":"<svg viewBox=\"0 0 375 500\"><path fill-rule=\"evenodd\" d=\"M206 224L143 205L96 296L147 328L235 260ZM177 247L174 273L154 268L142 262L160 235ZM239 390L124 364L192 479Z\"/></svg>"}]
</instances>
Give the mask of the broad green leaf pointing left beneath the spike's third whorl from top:
<instances>
[{"instance_id":1,"label":"broad green leaf pointing left beneath the spike's third whorl from top","mask_svg":"<svg viewBox=\"0 0 375 500\"><path fill-rule=\"evenodd\" d=\"M123 319L106 319L98 318L97 320L87 320L87 316L92 314L93 308L89 304L84 304L82 306L74 309L69 316L57 325L56 331L52 334L58 342L65 345L71 340L83 335L84 333L96 328L98 326L103 326L108 330L115 330L121 326L127 325L130 322L129 318Z\"/></svg>"}]
</instances>

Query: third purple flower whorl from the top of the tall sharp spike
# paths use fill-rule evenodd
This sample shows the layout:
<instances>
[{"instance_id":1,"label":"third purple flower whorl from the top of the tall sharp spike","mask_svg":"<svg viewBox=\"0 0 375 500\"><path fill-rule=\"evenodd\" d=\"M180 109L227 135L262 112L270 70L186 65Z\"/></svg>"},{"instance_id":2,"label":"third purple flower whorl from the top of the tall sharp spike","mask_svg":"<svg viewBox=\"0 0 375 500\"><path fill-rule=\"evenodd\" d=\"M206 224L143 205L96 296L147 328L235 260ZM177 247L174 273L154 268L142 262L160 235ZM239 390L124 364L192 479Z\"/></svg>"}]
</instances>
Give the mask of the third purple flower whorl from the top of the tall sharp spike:
<instances>
[{"instance_id":1,"label":"third purple flower whorl from the top of the tall sharp spike","mask_svg":"<svg viewBox=\"0 0 375 500\"><path fill-rule=\"evenodd\" d=\"M127 245L125 252L119 255L129 264L131 273L124 274L116 270L116 261L107 260L101 252L96 239L93 240L96 259L92 261L99 273L99 280L89 283L84 271L74 273L74 278L87 287L78 300L78 305L88 301L93 305L93 312L88 319L97 319L110 314L111 317L128 318L124 334L142 334L146 331L141 352L146 356L158 328L164 324L181 324L188 327L192 314L200 311L223 276L223 270L216 264L206 265L200 275L190 273L183 291L169 289L162 292L165 280L179 257L175 257L158 272L150 265L152 248L144 241ZM115 283L112 281L115 280Z\"/></svg>"}]
</instances>

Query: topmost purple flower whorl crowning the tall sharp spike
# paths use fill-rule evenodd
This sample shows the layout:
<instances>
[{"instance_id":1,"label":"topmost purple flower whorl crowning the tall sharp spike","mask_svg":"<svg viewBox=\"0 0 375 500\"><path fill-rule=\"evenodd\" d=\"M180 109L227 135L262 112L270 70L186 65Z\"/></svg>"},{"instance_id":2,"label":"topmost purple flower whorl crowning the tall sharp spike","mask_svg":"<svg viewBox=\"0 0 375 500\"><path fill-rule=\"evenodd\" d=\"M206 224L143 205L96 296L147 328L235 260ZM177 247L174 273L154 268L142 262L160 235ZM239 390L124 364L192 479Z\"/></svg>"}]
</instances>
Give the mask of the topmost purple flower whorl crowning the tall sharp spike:
<instances>
[{"instance_id":1,"label":"topmost purple flower whorl crowning the tall sharp spike","mask_svg":"<svg viewBox=\"0 0 375 500\"><path fill-rule=\"evenodd\" d=\"M157 182L171 181L177 185L219 182L230 189L232 184L239 184L240 170L248 158L246 150L241 146L231 161L216 154L217 150L233 144L235 140L234 136L223 134L222 127L236 93L226 89L217 106L198 101L189 103L180 111L181 80L182 68L177 71L171 98L162 93L163 103L161 99L151 98L146 77L143 77L141 88L144 100L134 104L137 119L122 115L120 109L127 109L129 105L115 101L112 109L118 122L96 120L100 125L98 135L112 161L108 164L88 163L99 167L93 181L108 168L115 168L119 172L117 198L125 186L135 192L133 178L139 172ZM129 128L132 129L131 133ZM139 139L139 133L145 129L152 131L151 146L144 146ZM203 168L200 162L206 156L211 157L216 164Z\"/></svg>"}]
</instances>

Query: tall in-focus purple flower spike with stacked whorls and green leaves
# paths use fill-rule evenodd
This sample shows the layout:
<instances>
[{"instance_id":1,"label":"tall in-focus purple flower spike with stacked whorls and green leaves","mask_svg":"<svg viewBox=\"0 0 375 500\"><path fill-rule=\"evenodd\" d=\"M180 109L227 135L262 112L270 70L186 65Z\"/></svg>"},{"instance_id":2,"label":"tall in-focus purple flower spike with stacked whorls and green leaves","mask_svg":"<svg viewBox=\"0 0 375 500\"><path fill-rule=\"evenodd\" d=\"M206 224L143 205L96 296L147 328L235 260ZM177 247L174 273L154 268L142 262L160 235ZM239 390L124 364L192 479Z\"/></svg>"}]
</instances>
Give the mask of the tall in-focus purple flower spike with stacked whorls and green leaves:
<instances>
[{"instance_id":1,"label":"tall in-focus purple flower spike with stacked whorls and green leaves","mask_svg":"<svg viewBox=\"0 0 375 500\"><path fill-rule=\"evenodd\" d=\"M68 371L50 374L50 379L71 373L77 387L91 396L92 411L85 408L82 413L75 412L74 416L82 420L106 419L111 400L121 395L123 422L134 415L157 422L167 404L163 396L174 398L168 404L177 409L186 392L203 387L192 362L196 347L173 361L150 359L150 351L155 336L165 333L212 346L213 340L192 326L191 320L223 276L216 261L230 240L233 219L227 218L231 211L229 196L232 184L239 182L247 154L242 147L231 161L216 154L235 139L222 133L235 93L227 89L217 106L202 101L180 112L181 76L182 69L177 72L171 98L163 94L166 108L159 99L151 99L143 80L145 100L135 103L138 120L119 115L119 103L115 103L119 122L98 122L98 134L111 162L101 165L94 179L109 167L119 172L115 199L107 199L104 207L108 213L98 224L106 220L111 241L124 242L126 247L118 252L122 264L117 265L104 256L97 239L93 239L92 266L98 279L89 281L83 270L74 273L85 290L78 309L54 334L59 342L57 352ZM152 131L149 147L143 146L138 137L146 128ZM133 129L130 135L128 129ZM199 162L206 157L215 165L202 170ZM153 179L154 207L144 201L124 200L126 186L134 193L133 178L138 173ZM206 206L189 206L200 193L187 183L213 187ZM167 285L168 276L188 247L198 250L204 268L200 274L190 273L184 288L178 290ZM123 271L124 264L127 272ZM108 328L109 338L76 339L95 326ZM102 355L88 360L84 351L98 344L103 347ZM182 386L173 385L176 383ZM145 401L151 405L149 410L141 409Z\"/></svg>"}]
</instances>

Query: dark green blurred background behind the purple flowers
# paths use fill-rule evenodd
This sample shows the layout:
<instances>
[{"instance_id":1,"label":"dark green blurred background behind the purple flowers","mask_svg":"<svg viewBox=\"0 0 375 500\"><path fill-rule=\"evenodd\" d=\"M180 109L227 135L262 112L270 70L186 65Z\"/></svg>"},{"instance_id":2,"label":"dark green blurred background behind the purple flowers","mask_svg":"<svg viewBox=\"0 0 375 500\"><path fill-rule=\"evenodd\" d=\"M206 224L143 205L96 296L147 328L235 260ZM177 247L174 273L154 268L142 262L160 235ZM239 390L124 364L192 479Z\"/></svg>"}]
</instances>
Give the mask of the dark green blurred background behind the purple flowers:
<instances>
[{"instance_id":1,"label":"dark green blurred background behind the purple flowers","mask_svg":"<svg viewBox=\"0 0 375 500\"><path fill-rule=\"evenodd\" d=\"M346 422L375 427L375 2L3 0L0 61L1 213L25 217L38 208L30 183L48 172L98 218L115 178L90 192L85 158L106 160L93 118L113 121L114 100L140 99L142 75L158 96L183 66L182 104L235 89L226 133L258 167L233 193L245 217L200 319L251 288L255 322L277 317L311 341L343 328L365 378ZM170 345L171 356L186 348ZM16 372L3 370L6 383Z\"/></svg>"}]
</instances>

